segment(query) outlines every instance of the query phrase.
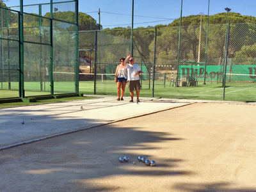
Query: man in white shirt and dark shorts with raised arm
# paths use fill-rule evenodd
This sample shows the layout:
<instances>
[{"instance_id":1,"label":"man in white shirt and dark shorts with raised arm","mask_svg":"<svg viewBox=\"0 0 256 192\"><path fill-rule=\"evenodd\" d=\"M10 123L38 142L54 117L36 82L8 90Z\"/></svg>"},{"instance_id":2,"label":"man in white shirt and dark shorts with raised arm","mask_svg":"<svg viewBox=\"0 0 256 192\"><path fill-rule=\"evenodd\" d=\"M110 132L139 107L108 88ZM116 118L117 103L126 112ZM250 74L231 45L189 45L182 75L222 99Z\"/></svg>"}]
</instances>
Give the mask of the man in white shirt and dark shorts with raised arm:
<instances>
[{"instance_id":1,"label":"man in white shirt and dark shorts with raised arm","mask_svg":"<svg viewBox=\"0 0 256 192\"><path fill-rule=\"evenodd\" d=\"M136 90L137 95L137 102L140 102L139 96L140 96L140 74L141 74L141 68L138 64L134 64L134 58L130 58L129 64L126 66L128 70L128 81L129 83L129 90L131 95L130 102L133 102L133 96L134 96L134 90Z\"/></svg>"}]
</instances>

